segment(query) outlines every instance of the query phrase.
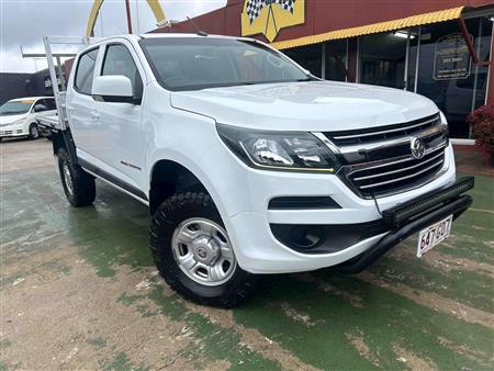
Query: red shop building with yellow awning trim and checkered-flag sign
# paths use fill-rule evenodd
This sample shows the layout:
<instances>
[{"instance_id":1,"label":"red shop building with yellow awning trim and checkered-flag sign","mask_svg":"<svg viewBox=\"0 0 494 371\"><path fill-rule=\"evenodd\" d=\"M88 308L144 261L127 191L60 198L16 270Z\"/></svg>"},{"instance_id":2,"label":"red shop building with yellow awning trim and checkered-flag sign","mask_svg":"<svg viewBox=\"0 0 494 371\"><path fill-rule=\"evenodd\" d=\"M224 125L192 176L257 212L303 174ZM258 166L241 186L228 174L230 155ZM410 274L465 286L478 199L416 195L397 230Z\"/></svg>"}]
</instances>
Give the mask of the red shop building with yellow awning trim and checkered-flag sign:
<instances>
[{"instance_id":1,"label":"red shop building with yellow awning trim and checkered-flag sign","mask_svg":"<svg viewBox=\"0 0 494 371\"><path fill-rule=\"evenodd\" d=\"M494 104L493 0L228 0L154 32L251 36L327 80L405 89L445 112L451 136Z\"/></svg>"}]
</instances>

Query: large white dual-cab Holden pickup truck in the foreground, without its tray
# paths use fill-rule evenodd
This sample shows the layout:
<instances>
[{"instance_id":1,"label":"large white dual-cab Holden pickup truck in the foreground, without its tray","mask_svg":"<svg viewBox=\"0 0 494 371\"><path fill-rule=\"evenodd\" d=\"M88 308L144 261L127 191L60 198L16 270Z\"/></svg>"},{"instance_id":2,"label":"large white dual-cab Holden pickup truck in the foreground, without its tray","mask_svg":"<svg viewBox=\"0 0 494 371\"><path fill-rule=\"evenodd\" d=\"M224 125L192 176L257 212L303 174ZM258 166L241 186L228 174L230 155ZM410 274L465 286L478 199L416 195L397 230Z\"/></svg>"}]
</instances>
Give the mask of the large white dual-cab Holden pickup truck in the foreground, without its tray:
<instances>
[{"instance_id":1,"label":"large white dual-cab Holden pickup truck in the foreground, without its tray","mask_svg":"<svg viewBox=\"0 0 494 371\"><path fill-rule=\"evenodd\" d=\"M431 101L319 80L255 40L99 41L66 110L69 202L90 205L100 178L148 205L161 276L201 304L242 303L259 274L359 272L417 232L420 256L472 202Z\"/></svg>"}]
</instances>

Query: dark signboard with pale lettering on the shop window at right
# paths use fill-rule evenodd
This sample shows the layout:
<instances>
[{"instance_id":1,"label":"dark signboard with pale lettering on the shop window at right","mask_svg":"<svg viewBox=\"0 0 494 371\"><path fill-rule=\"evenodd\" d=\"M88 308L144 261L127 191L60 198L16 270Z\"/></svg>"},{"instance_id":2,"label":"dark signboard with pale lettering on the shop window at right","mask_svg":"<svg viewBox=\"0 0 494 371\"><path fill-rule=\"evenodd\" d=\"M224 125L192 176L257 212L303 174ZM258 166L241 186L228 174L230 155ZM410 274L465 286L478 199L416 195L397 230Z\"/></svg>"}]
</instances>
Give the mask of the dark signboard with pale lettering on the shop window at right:
<instances>
[{"instance_id":1,"label":"dark signboard with pale lettering on the shop window at right","mask_svg":"<svg viewBox=\"0 0 494 371\"><path fill-rule=\"evenodd\" d=\"M471 58L461 34L449 34L436 43L434 79L467 79L471 72Z\"/></svg>"}]
</instances>

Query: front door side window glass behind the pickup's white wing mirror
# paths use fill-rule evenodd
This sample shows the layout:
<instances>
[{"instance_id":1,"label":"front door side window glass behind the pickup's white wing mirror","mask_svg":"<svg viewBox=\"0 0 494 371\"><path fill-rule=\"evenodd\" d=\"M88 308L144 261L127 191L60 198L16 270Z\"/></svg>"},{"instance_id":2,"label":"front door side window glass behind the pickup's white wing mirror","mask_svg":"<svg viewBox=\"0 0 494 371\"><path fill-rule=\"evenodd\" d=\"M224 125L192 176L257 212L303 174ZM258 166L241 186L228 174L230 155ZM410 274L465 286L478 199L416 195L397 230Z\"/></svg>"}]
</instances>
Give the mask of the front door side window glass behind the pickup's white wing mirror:
<instances>
[{"instance_id":1,"label":"front door side window glass behind the pickup's white wing mirror","mask_svg":"<svg viewBox=\"0 0 494 371\"><path fill-rule=\"evenodd\" d=\"M109 45L103 60L102 76L123 75L132 82L134 98L143 95L143 80L127 47L122 44Z\"/></svg>"}]
</instances>

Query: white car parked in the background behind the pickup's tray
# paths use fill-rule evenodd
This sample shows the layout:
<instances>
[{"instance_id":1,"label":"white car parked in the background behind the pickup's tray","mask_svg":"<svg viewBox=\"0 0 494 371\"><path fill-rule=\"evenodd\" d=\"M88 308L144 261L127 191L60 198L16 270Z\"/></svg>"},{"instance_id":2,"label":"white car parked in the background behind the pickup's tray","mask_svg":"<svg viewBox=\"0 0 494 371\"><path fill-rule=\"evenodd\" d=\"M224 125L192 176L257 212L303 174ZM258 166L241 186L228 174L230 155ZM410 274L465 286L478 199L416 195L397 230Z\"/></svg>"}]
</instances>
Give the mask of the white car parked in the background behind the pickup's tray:
<instances>
[{"instance_id":1,"label":"white car parked in the background behind the pickup's tray","mask_svg":"<svg viewBox=\"0 0 494 371\"><path fill-rule=\"evenodd\" d=\"M56 113L53 97L12 99L0 106L0 140L4 137L40 137L36 116Z\"/></svg>"}]
</instances>

